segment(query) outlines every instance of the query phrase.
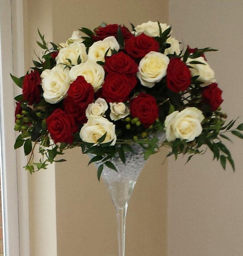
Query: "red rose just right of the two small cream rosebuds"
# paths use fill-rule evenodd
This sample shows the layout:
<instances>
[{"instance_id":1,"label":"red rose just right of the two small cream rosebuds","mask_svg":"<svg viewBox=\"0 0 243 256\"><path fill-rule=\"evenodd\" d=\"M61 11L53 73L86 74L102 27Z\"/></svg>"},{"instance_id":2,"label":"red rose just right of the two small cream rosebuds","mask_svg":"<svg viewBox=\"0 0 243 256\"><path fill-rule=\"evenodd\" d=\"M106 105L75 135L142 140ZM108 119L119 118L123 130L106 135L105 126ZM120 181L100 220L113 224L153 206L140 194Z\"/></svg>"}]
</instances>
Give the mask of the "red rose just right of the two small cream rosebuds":
<instances>
[{"instance_id":1,"label":"red rose just right of the two small cream rosebuds","mask_svg":"<svg viewBox=\"0 0 243 256\"><path fill-rule=\"evenodd\" d=\"M158 118L158 105L153 96L140 93L130 100L130 110L133 117L138 117L144 127L149 127Z\"/></svg>"}]
</instances>

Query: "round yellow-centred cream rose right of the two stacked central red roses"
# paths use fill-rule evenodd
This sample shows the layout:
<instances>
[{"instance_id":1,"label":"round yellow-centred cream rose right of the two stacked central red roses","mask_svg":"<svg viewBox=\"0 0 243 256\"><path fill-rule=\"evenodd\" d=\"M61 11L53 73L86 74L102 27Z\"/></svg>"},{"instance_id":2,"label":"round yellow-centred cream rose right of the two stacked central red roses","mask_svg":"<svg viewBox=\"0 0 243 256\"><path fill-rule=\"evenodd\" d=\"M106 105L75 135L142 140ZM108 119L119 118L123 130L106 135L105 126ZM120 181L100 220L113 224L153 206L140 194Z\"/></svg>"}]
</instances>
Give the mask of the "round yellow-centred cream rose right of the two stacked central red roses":
<instances>
[{"instance_id":1,"label":"round yellow-centred cream rose right of the two stacked central red roses","mask_svg":"<svg viewBox=\"0 0 243 256\"><path fill-rule=\"evenodd\" d=\"M169 58L156 51L150 51L139 62L137 78L145 87L152 88L166 76Z\"/></svg>"}]
</instances>

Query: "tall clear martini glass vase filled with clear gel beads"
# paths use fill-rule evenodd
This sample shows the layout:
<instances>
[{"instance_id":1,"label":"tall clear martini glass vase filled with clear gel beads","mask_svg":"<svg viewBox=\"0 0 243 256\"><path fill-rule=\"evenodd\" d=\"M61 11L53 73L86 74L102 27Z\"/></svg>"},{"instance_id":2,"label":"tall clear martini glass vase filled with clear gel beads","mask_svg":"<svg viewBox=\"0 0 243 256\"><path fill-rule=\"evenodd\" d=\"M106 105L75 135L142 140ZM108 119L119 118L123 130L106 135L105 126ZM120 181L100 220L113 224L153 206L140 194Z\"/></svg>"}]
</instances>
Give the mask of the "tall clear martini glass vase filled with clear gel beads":
<instances>
[{"instance_id":1,"label":"tall clear martini glass vase filled with clear gel beads","mask_svg":"<svg viewBox=\"0 0 243 256\"><path fill-rule=\"evenodd\" d=\"M132 149L134 153L125 152L125 164L123 164L119 156L115 156L110 160L116 166L117 171L104 165L101 175L116 209L119 256L125 256L125 223L128 201L145 164L144 155L142 154L143 148L138 144L134 144Z\"/></svg>"}]
</instances>

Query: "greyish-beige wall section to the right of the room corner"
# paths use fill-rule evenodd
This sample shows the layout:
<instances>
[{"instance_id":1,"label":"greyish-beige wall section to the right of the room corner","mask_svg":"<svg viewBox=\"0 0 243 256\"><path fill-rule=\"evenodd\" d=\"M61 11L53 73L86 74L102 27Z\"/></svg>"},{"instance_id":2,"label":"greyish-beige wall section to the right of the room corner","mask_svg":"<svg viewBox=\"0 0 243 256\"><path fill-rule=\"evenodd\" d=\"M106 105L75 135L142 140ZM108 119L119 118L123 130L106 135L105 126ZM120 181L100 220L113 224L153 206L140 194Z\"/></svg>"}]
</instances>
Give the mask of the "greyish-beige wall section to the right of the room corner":
<instances>
[{"instance_id":1,"label":"greyish-beige wall section to the right of the room corner","mask_svg":"<svg viewBox=\"0 0 243 256\"><path fill-rule=\"evenodd\" d=\"M243 1L170 0L174 35L192 47L211 46L207 58L222 88L229 120L242 116ZM241 118L241 122L242 122ZM243 255L242 141L227 143L236 171L212 162L212 155L176 162L168 169L168 255Z\"/></svg>"}]
</instances>

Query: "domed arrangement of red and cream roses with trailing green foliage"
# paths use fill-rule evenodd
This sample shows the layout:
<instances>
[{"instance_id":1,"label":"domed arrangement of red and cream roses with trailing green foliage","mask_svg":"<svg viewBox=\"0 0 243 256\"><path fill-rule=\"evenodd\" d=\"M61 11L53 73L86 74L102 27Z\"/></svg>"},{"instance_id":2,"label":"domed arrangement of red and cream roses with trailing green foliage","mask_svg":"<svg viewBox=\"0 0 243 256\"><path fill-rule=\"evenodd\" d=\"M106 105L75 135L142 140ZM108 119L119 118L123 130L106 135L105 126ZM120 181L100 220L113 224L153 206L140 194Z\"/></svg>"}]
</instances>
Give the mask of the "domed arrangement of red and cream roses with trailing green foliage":
<instances>
[{"instance_id":1,"label":"domed arrangement of red and cream roses with trailing green foliage","mask_svg":"<svg viewBox=\"0 0 243 256\"><path fill-rule=\"evenodd\" d=\"M221 112L222 90L205 53L212 48L181 50L171 26L148 21L132 31L122 25L102 23L93 31L74 31L65 43L47 43L39 32L43 56L21 78L16 100L15 130L21 132L15 148L24 147L30 159L25 169L46 169L48 162L73 147L95 156L100 179L104 164L119 155L125 164L132 143L144 149L144 158L159 147L167 156L201 154L203 145L223 168L234 161L222 139L231 132L240 138L243 124L232 128ZM159 142L158 133L166 140ZM32 145L34 142L34 145ZM39 146L42 158L33 162Z\"/></svg>"}]
</instances>

